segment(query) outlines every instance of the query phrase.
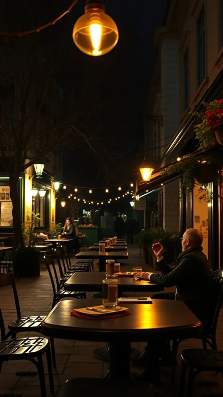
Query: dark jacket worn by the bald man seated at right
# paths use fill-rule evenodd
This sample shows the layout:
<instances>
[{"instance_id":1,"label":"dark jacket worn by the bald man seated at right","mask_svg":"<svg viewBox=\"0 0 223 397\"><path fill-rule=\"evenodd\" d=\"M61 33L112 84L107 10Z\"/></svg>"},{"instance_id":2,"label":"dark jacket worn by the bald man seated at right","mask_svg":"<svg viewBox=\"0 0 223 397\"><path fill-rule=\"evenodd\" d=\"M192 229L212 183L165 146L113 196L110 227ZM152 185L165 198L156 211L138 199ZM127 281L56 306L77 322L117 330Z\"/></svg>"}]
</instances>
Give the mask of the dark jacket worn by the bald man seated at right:
<instances>
[{"instance_id":1,"label":"dark jacket worn by the bald man seated at right","mask_svg":"<svg viewBox=\"0 0 223 397\"><path fill-rule=\"evenodd\" d=\"M150 280L165 287L176 285L176 299L181 300L201 321L207 316L213 292L211 265L202 247L193 247L181 252L177 265L171 268L165 259L157 262L162 274L152 274Z\"/></svg>"}]
</instances>

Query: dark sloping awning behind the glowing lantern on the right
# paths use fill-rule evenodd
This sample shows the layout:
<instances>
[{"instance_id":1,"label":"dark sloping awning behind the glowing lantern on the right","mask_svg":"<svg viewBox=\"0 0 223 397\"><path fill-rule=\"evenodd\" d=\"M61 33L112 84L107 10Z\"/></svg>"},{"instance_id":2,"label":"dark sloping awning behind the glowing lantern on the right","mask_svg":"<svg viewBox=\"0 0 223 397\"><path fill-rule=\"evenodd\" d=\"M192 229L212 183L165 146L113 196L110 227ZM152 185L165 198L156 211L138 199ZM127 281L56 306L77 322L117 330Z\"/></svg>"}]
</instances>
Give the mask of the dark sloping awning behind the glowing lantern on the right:
<instances>
[{"instance_id":1,"label":"dark sloping awning behind the glowing lantern on the right","mask_svg":"<svg viewBox=\"0 0 223 397\"><path fill-rule=\"evenodd\" d=\"M209 148L207 148L206 150L196 150L195 152L192 152L190 154L193 154L194 156L198 156L199 154L203 153L208 153L209 151L211 151L213 148L219 146L217 143L215 143L214 145L209 146ZM172 182L175 179L181 177L183 175L183 172L178 172L172 175L161 175L161 172L163 170L166 170L170 165L173 164L177 164L177 161L172 162L171 164L168 164L165 167L161 167L157 170L156 173L151 175L150 181L146 182L143 181L142 179L140 179L137 183L137 191L136 191L136 195L142 195L144 193L147 193L149 191L151 191L152 189L156 189L157 187L163 186L166 183Z\"/></svg>"}]
</instances>

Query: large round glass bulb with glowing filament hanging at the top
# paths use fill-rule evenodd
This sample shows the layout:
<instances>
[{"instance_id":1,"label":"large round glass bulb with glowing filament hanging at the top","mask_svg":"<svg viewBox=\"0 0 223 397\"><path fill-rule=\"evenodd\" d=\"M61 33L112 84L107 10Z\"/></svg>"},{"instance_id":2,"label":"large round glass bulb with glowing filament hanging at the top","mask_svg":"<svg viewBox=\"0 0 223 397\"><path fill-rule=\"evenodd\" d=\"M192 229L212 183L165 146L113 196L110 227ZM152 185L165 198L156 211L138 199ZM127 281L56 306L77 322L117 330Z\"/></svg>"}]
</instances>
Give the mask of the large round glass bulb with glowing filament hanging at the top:
<instances>
[{"instance_id":1,"label":"large round glass bulb with glowing filament hanging at the top","mask_svg":"<svg viewBox=\"0 0 223 397\"><path fill-rule=\"evenodd\" d=\"M114 48L118 39L118 28L105 13L102 0L87 0L85 14L73 27L73 41L79 50L87 55L104 55Z\"/></svg>"}]
</instances>

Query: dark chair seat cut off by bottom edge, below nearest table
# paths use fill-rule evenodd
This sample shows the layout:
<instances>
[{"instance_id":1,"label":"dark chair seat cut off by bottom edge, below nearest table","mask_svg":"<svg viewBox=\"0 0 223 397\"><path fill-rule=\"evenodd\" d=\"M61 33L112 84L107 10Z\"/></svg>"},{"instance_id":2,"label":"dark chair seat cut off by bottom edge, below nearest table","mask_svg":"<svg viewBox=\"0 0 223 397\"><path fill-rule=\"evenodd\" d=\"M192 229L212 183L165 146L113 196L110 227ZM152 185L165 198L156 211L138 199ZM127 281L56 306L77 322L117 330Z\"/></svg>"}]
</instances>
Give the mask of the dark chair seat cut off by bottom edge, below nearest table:
<instances>
[{"instance_id":1,"label":"dark chair seat cut off by bottom edge, below nearest table","mask_svg":"<svg viewBox=\"0 0 223 397\"><path fill-rule=\"evenodd\" d=\"M59 390L57 397L153 397L154 391L147 382L134 380L110 380L97 378L76 378L68 380ZM158 397L158 395L157 395Z\"/></svg>"}]
</instances>

